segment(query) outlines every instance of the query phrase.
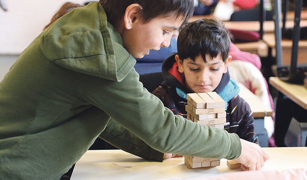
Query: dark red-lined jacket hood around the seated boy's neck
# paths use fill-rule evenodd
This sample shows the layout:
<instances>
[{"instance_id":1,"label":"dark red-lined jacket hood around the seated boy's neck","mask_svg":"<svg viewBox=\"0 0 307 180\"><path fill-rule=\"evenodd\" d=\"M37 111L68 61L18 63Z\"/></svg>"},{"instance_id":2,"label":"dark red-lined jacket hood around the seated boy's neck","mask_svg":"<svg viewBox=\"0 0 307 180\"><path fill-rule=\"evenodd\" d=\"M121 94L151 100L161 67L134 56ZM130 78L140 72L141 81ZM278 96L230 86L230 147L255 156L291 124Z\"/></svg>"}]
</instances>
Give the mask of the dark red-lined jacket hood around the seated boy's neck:
<instances>
[{"instance_id":1,"label":"dark red-lined jacket hood around the seated boy's neck","mask_svg":"<svg viewBox=\"0 0 307 180\"><path fill-rule=\"evenodd\" d=\"M186 86L184 85L185 84L184 74L178 71L178 63L176 62L175 59L176 54L177 53L172 53L163 62L162 64L163 77L168 84L176 88L179 88L186 93L192 93L191 90L186 88ZM230 75L229 75L229 70L227 69L227 72L223 74L220 84L216 87L214 91L216 93L220 93L226 87L229 81L230 81Z\"/></svg>"}]
</instances>

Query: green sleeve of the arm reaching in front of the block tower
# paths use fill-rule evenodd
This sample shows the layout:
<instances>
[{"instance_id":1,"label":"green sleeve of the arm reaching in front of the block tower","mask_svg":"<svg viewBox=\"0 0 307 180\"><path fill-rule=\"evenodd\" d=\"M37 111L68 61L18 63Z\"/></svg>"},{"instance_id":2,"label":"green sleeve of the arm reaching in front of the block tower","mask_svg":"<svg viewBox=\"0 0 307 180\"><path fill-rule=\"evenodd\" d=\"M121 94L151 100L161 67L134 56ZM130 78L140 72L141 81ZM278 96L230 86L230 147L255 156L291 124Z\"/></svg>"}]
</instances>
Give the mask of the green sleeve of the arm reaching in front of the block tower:
<instances>
[{"instance_id":1,"label":"green sleeve of the arm reaching in front of the block tower","mask_svg":"<svg viewBox=\"0 0 307 180\"><path fill-rule=\"evenodd\" d=\"M158 97L143 88L134 70L121 82L82 75L80 85L86 101L157 151L228 159L241 153L236 134L174 115Z\"/></svg>"}]
</instances>

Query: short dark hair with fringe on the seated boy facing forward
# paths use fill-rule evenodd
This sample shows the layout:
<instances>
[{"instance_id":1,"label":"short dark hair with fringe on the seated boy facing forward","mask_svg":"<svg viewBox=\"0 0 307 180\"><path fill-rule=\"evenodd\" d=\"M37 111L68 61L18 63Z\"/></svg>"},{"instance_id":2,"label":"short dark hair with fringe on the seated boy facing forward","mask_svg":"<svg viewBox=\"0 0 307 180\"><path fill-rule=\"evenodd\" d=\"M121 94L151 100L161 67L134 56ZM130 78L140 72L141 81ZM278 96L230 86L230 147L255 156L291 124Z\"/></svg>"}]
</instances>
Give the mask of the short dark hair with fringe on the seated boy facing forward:
<instances>
[{"instance_id":1,"label":"short dark hair with fringe on the seated boy facing forward","mask_svg":"<svg viewBox=\"0 0 307 180\"><path fill-rule=\"evenodd\" d=\"M231 43L231 35L222 21L216 19L199 19L182 27L178 35L178 56L181 60L202 55L205 62L206 54L211 58L221 54L226 61Z\"/></svg>"}]
</instances>

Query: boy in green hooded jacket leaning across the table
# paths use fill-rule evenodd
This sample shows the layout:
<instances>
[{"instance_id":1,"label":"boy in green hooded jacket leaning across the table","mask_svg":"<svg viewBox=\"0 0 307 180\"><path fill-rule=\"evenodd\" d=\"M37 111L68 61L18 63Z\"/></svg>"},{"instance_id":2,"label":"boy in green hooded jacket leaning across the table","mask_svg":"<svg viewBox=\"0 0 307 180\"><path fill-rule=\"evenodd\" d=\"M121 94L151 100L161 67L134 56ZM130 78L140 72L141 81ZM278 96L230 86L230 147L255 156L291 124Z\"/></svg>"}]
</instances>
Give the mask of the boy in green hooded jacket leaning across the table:
<instances>
[{"instance_id":1,"label":"boy in green hooded jacket leaning across the table","mask_svg":"<svg viewBox=\"0 0 307 180\"><path fill-rule=\"evenodd\" d=\"M139 82L134 57L169 46L192 13L191 0L101 0L43 31L0 83L0 179L59 179L98 136L156 161L264 166L259 146L173 115Z\"/></svg>"}]
</instances>

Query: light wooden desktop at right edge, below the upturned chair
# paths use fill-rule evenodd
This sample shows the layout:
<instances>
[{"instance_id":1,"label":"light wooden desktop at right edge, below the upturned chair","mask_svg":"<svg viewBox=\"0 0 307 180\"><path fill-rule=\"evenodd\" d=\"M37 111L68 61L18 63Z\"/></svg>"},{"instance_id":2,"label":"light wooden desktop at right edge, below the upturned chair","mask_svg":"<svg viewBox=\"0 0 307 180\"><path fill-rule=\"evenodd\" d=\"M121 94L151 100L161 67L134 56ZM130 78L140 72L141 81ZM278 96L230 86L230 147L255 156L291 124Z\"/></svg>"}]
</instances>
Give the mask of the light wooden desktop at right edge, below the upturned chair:
<instances>
[{"instance_id":1,"label":"light wooden desktop at right edge, below the upturned chair","mask_svg":"<svg viewBox=\"0 0 307 180\"><path fill-rule=\"evenodd\" d=\"M276 90L288 96L293 102L307 110L307 89L303 85L296 85L281 81L278 77L270 77L269 83Z\"/></svg>"}]
</instances>

